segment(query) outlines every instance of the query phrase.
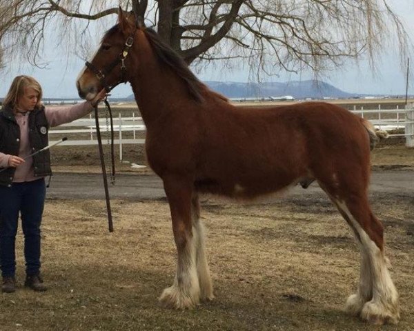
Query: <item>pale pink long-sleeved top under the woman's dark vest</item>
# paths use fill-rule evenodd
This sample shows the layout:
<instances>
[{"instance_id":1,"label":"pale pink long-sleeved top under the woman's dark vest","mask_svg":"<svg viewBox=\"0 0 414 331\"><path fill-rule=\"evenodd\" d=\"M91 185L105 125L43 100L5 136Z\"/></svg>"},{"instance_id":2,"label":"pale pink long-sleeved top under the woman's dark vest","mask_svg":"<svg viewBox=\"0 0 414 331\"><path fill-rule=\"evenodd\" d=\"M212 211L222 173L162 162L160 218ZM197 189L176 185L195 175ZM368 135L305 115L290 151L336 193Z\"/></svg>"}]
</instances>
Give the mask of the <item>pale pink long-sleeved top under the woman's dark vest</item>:
<instances>
[{"instance_id":1,"label":"pale pink long-sleeved top under the woman's dark vest","mask_svg":"<svg viewBox=\"0 0 414 331\"><path fill-rule=\"evenodd\" d=\"M45 114L49 126L60 126L63 123L69 123L71 121L75 121L75 119L80 119L88 114L92 109L93 107L90 103L85 101L83 103L78 103L75 106L45 108ZM24 159L32 152L30 150L29 143L28 113L26 115L18 113L14 116L20 127L20 150L18 156ZM9 154L0 152L0 168L8 167L8 160L10 156L11 155ZM39 179L40 177L34 177L34 169L32 165L32 157L29 157L24 163L19 165L16 168L16 172L14 172L13 182L21 183L23 181L34 181L35 179Z\"/></svg>"}]
</instances>

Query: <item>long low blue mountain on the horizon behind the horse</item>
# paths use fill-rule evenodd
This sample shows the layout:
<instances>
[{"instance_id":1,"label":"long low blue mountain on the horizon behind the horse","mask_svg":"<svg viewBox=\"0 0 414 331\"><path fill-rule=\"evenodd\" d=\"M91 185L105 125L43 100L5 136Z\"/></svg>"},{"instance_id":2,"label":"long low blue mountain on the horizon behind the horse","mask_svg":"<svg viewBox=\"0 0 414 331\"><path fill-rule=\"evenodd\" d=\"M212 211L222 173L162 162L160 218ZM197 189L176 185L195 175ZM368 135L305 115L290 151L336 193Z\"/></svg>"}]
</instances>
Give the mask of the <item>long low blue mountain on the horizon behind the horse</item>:
<instances>
[{"instance_id":1,"label":"long low blue mountain on the horizon behind the horse","mask_svg":"<svg viewBox=\"0 0 414 331\"><path fill-rule=\"evenodd\" d=\"M344 92L324 81L289 81L286 83L235 83L205 81L212 90L228 98L268 98L289 95L295 99L349 98L358 94ZM131 94L128 99L134 99Z\"/></svg>"}]
</instances>

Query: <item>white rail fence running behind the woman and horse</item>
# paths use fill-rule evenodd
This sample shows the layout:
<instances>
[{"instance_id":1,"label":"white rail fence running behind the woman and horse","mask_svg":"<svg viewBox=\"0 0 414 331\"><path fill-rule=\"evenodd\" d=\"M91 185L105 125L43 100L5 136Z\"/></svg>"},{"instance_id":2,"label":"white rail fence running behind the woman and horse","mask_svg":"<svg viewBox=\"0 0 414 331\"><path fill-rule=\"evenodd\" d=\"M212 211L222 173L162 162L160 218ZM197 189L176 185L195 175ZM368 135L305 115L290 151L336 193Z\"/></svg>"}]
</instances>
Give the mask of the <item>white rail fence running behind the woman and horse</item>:
<instances>
[{"instance_id":1,"label":"white rail fence running behind the woman and horse","mask_svg":"<svg viewBox=\"0 0 414 331\"><path fill-rule=\"evenodd\" d=\"M355 114L359 114L361 117L369 116L371 123L380 130L394 130L404 129L404 133L390 134L390 136L404 136L406 137L406 146L414 147L414 104L409 105L407 109L393 109L382 110L379 106L376 110L364 110L364 108L357 109L354 107L351 110ZM132 117L114 118L114 131L117 132L115 144L119 145L119 159L122 161L122 146L129 143L144 144L145 139L137 138L139 132L146 130L144 121L141 117L136 117L132 114ZM108 121L106 119L99 119L99 127L103 136L102 143L108 143L106 139L106 132L109 130ZM129 132L128 138L122 137L123 132ZM83 136L83 139L77 138L79 134ZM59 135L59 137L57 137ZM85 139L85 136L89 139ZM142 136L142 134L140 134ZM78 119L72 123L63 124L58 128L52 128L49 131L50 143L61 139L62 137L68 137L67 141L63 141L61 145L66 146L86 146L97 145L96 139L96 127L95 118L90 115L89 119Z\"/></svg>"}]
</instances>

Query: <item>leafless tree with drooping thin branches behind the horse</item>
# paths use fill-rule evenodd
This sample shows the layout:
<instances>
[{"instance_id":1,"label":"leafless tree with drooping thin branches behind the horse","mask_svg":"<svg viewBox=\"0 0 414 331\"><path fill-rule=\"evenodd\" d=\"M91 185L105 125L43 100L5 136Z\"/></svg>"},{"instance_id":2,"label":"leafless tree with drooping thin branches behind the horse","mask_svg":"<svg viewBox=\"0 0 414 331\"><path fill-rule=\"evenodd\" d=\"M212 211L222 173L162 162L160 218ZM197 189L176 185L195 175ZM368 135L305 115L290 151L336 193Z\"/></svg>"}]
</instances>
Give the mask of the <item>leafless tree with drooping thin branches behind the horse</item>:
<instances>
[{"instance_id":1,"label":"leafless tree with drooping thin branches behind the horse","mask_svg":"<svg viewBox=\"0 0 414 331\"><path fill-rule=\"evenodd\" d=\"M0 67L17 54L42 66L50 32L59 47L88 48L92 21L115 19L119 4L133 10L187 63L247 63L255 72L326 72L345 59L382 51L408 37L391 0L0 0ZM110 17L110 19L106 19ZM112 24L115 23L112 21ZM105 26L105 24L102 24ZM99 31L99 35L102 31Z\"/></svg>"}]
</instances>

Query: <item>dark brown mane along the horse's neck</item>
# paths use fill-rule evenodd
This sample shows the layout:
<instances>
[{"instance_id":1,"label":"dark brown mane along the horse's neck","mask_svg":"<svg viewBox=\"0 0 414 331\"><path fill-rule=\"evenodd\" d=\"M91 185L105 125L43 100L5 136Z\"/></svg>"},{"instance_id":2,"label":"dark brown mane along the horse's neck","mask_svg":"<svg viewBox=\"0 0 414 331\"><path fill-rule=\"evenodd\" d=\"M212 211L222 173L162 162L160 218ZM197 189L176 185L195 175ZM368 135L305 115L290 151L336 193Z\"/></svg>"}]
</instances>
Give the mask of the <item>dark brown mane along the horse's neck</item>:
<instances>
[{"instance_id":1,"label":"dark brown mane along the horse's neck","mask_svg":"<svg viewBox=\"0 0 414 331\"><path fill-rule=\"evenodd\" d=\"M193 74L190 69L188 69L186 61L184 61L184 59L180 57L179 54L175 52L175 50L170 48L170 46L168 46L159 37L155 30L146 28L143 31L159 61L165 66L168 66L170 70L175 72L178 77L184 80L188 91L190 92L190 96L195 101L203 101L204 98L202 97L202 93L206 91L206 86L204 83L199 81L197 77L195 77L195 74Z\"/></svg>"}]
</instances>

